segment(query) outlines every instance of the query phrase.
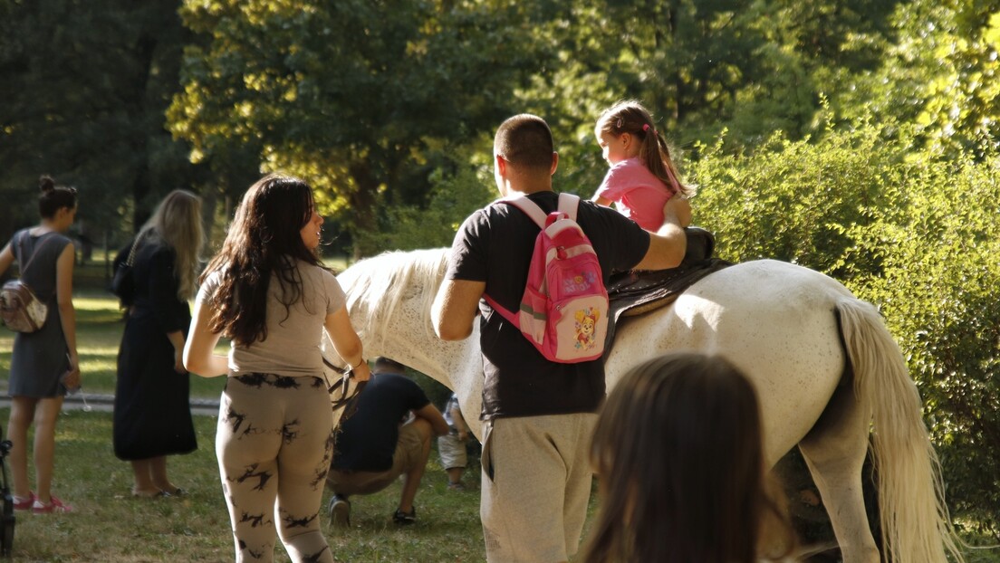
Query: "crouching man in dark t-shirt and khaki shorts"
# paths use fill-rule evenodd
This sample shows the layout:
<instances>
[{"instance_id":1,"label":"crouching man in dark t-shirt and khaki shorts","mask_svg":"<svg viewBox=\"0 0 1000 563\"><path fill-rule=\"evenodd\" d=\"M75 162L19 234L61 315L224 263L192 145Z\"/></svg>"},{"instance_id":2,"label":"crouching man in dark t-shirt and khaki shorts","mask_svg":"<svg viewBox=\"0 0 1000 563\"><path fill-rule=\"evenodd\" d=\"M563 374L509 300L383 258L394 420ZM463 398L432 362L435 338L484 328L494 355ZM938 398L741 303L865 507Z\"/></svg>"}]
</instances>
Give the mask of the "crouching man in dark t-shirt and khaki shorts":
<instances>
[{"instance_id":1,"label":"crouching man in dark t-shirt and khaki shorts","mask_svg":"<svg viewBox=\"0 0 1000 563\"><path fill-rule=\"evenodd\" d=\"M403 475L397 524L416 521L413 499L431 451L431 438L448 433L448 423L404 366L377 358L372 378L357 399L357 410L337 431L333 463L326 485L330 522L350 524L350 495L370 495ZM410 413L413 413L412 417Z\"/></svg>"}]
</instances>

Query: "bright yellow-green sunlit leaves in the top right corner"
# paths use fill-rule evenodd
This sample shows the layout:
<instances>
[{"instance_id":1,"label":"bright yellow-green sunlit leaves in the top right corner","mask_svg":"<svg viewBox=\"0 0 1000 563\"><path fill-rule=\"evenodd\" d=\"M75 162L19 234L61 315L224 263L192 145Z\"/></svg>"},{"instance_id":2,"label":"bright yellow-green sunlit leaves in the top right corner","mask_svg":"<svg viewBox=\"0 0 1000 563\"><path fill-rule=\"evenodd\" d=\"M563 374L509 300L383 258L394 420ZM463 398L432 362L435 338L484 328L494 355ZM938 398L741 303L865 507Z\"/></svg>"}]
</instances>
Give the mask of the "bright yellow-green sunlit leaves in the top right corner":
<instances>
[{"instance_id":1,"label":"bright yellow-green sunlit leaves in the top right corner","mask_svg":"<svg viewBox=\"0 0 1000 563\"><path fill-rule=\"evenodd\" d=\"M885 47L879 68L838 87L838 111L889 118L889 138L904 124L915 145L932 152L995 150L1000 2L914 0L900 5L892 23L898 39Z\"/></svg>"}]
</instances>

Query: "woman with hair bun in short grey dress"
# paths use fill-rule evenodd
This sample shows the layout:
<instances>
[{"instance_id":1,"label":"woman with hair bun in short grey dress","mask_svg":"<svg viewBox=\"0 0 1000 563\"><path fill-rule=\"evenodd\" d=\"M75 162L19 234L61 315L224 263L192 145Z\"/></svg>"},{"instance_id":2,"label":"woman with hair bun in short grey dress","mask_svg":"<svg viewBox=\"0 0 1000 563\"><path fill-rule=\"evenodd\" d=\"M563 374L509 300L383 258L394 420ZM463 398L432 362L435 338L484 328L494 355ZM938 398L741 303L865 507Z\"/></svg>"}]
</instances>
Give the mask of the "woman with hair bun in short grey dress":
<instances>
[{"instance_id":1,"label":"woman with hair bun in short grey dress","mask_svg":"<svg viewBox=\"0 0 1000 563\"><path fill-rule=\"evenodd\" d=\"M76 190L56 186L42 176L38 211L42 221L14 233L0 251L0 274L16 259L21 281L48 305L41 329L14 336L8 394L11 397L7 435L13 443L10 470L14 508L36 514L70 512L72 507L52 495L56 419L67 388L80 386L76 353L76 311L73 309L73 243L65 236L76 217ZM28 478L28 427L35 424L35 487Z\"/></svg>"}]
</instances>

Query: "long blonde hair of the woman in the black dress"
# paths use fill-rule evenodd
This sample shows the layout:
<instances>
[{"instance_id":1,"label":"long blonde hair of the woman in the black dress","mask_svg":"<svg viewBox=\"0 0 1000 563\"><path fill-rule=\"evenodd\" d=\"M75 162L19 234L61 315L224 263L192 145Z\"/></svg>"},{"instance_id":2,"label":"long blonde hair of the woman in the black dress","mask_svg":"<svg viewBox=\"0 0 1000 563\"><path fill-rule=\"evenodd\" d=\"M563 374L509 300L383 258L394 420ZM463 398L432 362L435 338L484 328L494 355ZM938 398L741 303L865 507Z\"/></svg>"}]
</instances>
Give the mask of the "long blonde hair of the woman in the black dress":
<instances>
[{"instance_id":1,"label":"long blonde hair of the woman in the black dress","mask_svg":"<svg viewBox=\"0 0 1000 563\"><path fill-rule=\"evenodd\" d=\"M187 190L174 190L167 194L136 235L135 244L141 245L146 238L152 237L174 250L177 298L188 301L198 289L201 252L205 247L201 198Z\"/></svg>"}]
</instances>

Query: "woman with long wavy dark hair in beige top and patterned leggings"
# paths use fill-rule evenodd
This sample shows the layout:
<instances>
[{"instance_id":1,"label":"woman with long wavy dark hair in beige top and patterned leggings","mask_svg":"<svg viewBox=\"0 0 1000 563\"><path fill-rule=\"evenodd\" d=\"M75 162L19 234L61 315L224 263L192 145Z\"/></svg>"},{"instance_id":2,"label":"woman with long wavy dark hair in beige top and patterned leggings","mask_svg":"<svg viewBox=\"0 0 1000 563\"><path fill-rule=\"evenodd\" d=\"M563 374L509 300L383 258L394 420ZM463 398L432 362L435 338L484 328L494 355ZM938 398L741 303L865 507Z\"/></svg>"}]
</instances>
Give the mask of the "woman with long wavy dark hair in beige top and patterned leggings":
<instances>
[{"instance_id":1,"label":"woman with long wavy dark hair in beige top and patterned leggings","mask_svg":"<svg viewBox=\"0 0 1000 563\"><path fill-rule=\"evenodd\" d=\"M344 291L316 252L322 224L308 184L262 178L195 301L184 365L228 375L215 447L239 562L271 561L275 528L292 561L333 561L319 526L333 453L323 330L357 379L371 373ZM228 357L212 352L222 335Z\"/></svg>"}]
</instances>

